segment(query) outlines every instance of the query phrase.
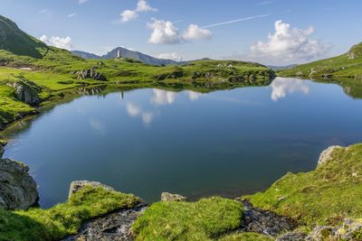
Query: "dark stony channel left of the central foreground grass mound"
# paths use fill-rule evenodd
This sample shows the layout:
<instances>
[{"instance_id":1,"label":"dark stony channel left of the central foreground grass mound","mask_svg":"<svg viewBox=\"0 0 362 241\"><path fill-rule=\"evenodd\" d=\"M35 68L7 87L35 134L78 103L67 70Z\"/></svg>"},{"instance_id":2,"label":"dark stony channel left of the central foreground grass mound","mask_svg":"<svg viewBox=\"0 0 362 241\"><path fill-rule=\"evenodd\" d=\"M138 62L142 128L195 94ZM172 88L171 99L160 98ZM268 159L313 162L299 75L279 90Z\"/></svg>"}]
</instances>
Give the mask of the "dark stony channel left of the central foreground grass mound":
<instances>
[{"instance_id":1,"label":"dark stony channel left of the central foreground grass mound","mask_svg":"<svg viewBox=\"0 0 362 241\"><path fill-rule=\"evenodd\" d=\"M136 218L147 208L147 204L142 203L133 209L124 209L102 218L96 218L84 224L77 235L69 236L63 239L63 241L134 240L131 227Z\"/></svg>"}]
</instances>

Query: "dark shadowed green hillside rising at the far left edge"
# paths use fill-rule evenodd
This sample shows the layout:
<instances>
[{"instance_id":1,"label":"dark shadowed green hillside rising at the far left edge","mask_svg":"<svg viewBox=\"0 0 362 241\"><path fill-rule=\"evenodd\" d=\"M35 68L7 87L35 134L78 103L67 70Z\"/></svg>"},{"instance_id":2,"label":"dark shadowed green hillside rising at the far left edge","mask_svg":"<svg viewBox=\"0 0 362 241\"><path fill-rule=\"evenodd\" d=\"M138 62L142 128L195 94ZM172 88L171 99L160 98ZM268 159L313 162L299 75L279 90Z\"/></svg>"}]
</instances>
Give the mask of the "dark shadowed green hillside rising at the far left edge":
<instances>
[{"instance_id":1,"label":"dark shadowed green hillside rising at the far left edge","mask_svg":"<svg viewBox=\"0 0 362 241\"><path fill-rule=\"evenodd\" d=\"M0 50L10 51L16 55L42 58L42 52L48 50L48 46L33 38L6 18L0 15Z\"/></svg>"}]
</instances>

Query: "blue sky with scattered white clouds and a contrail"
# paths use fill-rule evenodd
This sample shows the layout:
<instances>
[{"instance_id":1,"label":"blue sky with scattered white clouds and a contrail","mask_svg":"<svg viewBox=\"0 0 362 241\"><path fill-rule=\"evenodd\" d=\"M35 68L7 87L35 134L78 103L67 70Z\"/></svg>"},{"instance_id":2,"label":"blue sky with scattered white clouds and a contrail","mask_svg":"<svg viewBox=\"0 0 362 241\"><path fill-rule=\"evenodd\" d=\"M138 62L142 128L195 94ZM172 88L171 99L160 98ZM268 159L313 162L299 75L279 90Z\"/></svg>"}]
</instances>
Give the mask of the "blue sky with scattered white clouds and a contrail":
<instances>
[{"instance_id":1,"label":"blue sky with scattered white clouds and a contrail","mask_svg":"<svg viewBox=\"0 0 362 241\"><path fill-rule=\"evenodd\" d=\"M288 65L362 42L361 0L0 0L0 14L49 45L158 58Z\"/></svg>"}]
</instances>

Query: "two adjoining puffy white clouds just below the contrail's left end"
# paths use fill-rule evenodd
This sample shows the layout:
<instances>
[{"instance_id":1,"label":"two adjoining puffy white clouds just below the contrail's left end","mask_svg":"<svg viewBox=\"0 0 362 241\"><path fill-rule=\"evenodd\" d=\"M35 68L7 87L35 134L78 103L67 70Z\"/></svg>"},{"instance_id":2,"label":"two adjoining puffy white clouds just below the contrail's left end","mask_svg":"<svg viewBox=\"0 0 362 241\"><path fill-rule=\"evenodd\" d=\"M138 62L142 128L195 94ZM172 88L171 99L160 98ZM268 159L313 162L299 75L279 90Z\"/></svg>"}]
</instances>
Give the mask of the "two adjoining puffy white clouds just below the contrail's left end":
<instances>
[{"instance_id":1,"label":"two adjoining puffy white clouds just below the contrail's left end","mask_svg":"<svg viewBox=\"0 0 362 241\"><path fill-rule=\"evenodd\" d=\"M148 23L148 27L152 30L148 40L150 43L175 44L195 40L207 40L212 36L209 30L201 28L196 24L190 24L186 32L182 35L175 24L169 21L152 19L152 22Z\"/></svg>"}]
</instances>

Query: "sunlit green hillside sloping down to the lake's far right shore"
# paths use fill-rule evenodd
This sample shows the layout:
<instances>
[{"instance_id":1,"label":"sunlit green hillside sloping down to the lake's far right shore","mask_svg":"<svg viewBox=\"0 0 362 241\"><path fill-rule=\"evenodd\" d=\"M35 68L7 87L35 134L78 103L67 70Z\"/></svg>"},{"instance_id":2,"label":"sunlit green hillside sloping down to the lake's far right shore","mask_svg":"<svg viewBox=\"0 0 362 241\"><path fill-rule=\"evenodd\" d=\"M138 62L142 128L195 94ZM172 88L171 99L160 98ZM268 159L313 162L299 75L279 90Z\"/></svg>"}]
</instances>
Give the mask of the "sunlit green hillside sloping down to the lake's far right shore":
<instances>
[{"instance_id":1,"label":"sunlit green hillside sloping down to the lake's far right shore","mask_svg":"<svg viewBox=\"0 0 362 241\"><path fill-rule=\"evenodd\" d=\"M290 70L280 70L278 75L311 79L362 79L362 42L337 57L301 64Z\"/></svg>"}]
</instances>

